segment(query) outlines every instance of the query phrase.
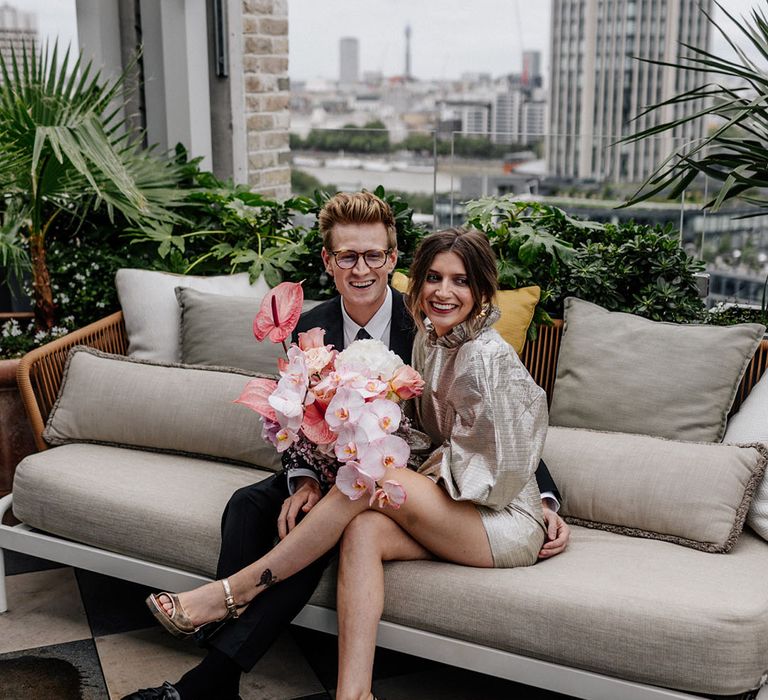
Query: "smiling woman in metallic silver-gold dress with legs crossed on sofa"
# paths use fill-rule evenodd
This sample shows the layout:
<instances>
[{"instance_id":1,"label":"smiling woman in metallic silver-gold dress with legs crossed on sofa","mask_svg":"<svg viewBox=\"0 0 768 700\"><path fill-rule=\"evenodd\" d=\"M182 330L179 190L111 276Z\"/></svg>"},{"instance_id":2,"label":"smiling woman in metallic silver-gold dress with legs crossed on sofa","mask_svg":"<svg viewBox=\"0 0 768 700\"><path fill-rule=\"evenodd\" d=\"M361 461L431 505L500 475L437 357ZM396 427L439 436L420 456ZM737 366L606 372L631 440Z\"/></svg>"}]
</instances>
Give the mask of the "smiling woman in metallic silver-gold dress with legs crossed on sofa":
<instances>
[{"instance_id":1,"label":"smiling woman in metallic silver-gold dress with legs crossed on sofa","mask_svg":"<svg viewBox=\"0 0 768 700\"><path fill-rule=\"evenodd\" d=\"M545 538L534 472L546 434L546 398L491 328L498 318L491 305L497 283L487 238L460 229L428 236L411 280L411 311L422 329L414 358L426 380L417 418L440 447L418 472L385 477L405 487L405 504L379 510L333 488L278 545L228 580L148 599L166 628L192 633L236 616L239 607L344 534L340 700L370 696L382 561L436 557L476 567L528 566Z\"/></svg>"}]
</instances>

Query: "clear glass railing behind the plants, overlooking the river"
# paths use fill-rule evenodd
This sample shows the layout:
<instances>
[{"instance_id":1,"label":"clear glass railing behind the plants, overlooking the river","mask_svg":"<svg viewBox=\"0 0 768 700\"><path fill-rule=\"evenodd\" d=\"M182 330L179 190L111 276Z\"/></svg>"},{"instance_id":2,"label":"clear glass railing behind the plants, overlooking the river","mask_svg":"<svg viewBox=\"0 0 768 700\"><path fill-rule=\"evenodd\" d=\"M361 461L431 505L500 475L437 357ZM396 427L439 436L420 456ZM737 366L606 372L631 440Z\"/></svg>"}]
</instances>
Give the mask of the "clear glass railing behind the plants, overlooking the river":
<instances>
[{"instance_id":1,"label":"clear glass railing behind the plants, overlooking the river","mask_svg":"<svg viewBox=\"0 0 768 700\"><path fill-rule=\"evenodd\" d=\"M747 206L704 210L714 191L706 181L695 181L675 201L622 206L653 163L669 155L676 145L671 139L634 146L551 134L365 128L312 129L302 136L292 138L292 168L294 185L304 191L318 184L348 191L382 185L401 193L417 221L434 229L461 225L469 200L507 194L594 221L668 224L686 252L706 262L710 306L762 300L768 216L744 218L754 214Z\"/></svg>"}]
</instances>

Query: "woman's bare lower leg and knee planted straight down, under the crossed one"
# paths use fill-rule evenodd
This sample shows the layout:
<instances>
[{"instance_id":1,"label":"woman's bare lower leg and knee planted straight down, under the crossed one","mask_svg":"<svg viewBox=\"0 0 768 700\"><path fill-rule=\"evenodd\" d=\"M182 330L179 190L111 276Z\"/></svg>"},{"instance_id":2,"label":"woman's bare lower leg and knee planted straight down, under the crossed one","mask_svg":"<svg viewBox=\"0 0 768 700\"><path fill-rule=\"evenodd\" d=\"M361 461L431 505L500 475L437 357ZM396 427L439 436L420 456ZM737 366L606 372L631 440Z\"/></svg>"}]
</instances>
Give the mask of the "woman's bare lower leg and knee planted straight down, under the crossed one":
<instances>
[{"instance_id":1,"label":"woman's bare lower leg and knee planted straight down, under the crossed one","mask_svg":"<svg viewBox=\"0 0 768 700\"><path fill-rule=\"evenodd\" d=\"M370 695L376 628L384 610L382 563L431 558L427 549L382 513L361 513L344 530L336 588L339 618L336 700L366 700Z\"/></svg>"}]
</instances>

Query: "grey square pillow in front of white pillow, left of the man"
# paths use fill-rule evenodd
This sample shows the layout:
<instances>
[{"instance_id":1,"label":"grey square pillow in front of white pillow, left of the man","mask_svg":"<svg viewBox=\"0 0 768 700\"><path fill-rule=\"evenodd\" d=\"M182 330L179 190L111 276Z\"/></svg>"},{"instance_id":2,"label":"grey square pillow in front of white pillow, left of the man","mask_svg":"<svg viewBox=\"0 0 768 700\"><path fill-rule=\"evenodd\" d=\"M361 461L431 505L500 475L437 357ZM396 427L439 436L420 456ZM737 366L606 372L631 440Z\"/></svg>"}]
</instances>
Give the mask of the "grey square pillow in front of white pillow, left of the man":
<instances>
[{"instance_id":1,"label":"grey square pillow in front of white pillow, left of the man","mask_svg":"<svg viewBox=\"0 0 768 700\"><path fill-rule=\"evenodd\" d=\"M181 309L181 361L191 365L237 367L277 375L277 360L285 357L280 343L253 337L253 319L261 299L206 294L177 287ZM318 301L304 301L309 311Z\"/></svg>"}]
</instances>

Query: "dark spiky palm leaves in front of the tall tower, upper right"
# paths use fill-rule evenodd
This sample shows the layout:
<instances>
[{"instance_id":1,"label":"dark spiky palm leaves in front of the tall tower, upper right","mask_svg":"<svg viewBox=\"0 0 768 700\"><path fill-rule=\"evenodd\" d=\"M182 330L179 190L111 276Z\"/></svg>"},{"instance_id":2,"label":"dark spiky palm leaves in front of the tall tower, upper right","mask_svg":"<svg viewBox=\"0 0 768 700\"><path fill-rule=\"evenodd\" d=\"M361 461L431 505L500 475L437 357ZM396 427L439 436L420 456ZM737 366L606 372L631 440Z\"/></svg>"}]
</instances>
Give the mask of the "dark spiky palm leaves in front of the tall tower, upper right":
<instances>
[{"instance_id":1,"label":"dark spiky palm leaves in front of the tall tower, upper right","mask_svg":"<svg viewBox=\"0 0 768 700\"><path fill-rule=\"evenodd\" d=\"M768 61L766 13L753 9L749 19L737 21L722 3L715 2L746 38L746 45L754 48L760 62ZM737 58L721 58L702 48L683 44L690 51L685 63L648 61L697 73L702 78L702 84L649 107L640 116L668 105L674 107L703 102L705 106L688 116L652 126L622 141L631 143L653 138L688 122L703 120L706 123L715 119L719 123L703 139L687 143L670 154L625 206L666 190L669 190L671 197L678 197L698 175L705 175L719 183L705 207L714 211L723 202L741 200L755 206L754 215L757 216L768 211L768 195L761 191L761 188L768 187L768 67L750 58L735 39L714 23L710 14L705 12L705 15L736 52ZM710 76L720 76L725 80L709 82ZM737 85L729 86L728 83Z\"/></svg>"}]
</instances>

